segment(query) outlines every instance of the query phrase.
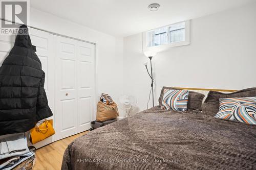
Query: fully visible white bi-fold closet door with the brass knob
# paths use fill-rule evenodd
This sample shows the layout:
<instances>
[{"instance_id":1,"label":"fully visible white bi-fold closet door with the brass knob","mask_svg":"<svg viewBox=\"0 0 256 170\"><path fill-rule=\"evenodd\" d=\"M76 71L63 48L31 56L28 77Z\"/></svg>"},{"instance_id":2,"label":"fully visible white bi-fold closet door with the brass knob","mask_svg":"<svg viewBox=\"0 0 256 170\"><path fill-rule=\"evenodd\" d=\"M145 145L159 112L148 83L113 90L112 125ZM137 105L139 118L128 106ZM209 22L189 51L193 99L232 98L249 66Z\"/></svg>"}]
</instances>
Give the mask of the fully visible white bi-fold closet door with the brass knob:
<instances>
[{"instance_id":1,"label":"fully visible white bi-fold closet door with the brass knob","mask_svg":"<svg viewBox=\"0 0 256 170\"><path fill-rule=\"evenodd\" d=\"M94 45L54 36L56 140L90 129L95 101Z\"/></svg>"}]
</instances>

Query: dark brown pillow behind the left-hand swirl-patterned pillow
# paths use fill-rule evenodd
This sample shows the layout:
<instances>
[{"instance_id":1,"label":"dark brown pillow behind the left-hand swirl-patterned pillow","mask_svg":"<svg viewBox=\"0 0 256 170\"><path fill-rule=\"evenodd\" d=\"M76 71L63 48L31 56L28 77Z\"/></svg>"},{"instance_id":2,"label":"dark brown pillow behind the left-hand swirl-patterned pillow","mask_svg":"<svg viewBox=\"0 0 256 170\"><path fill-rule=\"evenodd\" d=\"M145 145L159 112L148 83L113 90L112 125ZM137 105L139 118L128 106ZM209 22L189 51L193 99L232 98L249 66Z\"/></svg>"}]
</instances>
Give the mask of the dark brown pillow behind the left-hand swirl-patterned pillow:
<instances>
[{"instance_id":1,"label":"dark brown pillow behind the left-hand swirl-patterned pillow","mask_svg":"<svg viewBox=\"0 0 256 170\"><path fill-rule=\"evenodd\" d=\"M160 97L158 99L159 106L162 106L162 101L163 101L163 91L164 89L169 89L169 90L180 90L177 88L173 87L165 87L163 86L161 90ZM187 102L187 111L199 111L201 110L202 102L204 99L204 94L196 92L196 91L189 91L188 93L188 102Z\"/></svg>"}]
</instances>

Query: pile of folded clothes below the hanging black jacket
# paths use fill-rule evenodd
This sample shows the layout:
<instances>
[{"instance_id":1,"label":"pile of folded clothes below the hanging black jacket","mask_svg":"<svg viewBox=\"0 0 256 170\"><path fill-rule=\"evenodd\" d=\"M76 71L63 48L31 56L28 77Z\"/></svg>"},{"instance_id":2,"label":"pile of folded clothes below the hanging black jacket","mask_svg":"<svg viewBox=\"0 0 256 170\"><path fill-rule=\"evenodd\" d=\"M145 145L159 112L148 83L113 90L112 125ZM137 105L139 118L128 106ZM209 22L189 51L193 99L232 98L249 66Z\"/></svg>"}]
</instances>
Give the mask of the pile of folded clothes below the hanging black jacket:
<instances>
[{"instance_id":1,"label":"pile of folded clothes below the hanging black jacket","mask_svg":"<svg viewBox=\"0 0 256 170\"><path fill-rule=\"evenodd\" d=\"M35 153L29 150L25 133L0 139L0 169L20 169L20 165L24 169L28 164L32 169L34 158Z\"/></svg>"}]
</instances>

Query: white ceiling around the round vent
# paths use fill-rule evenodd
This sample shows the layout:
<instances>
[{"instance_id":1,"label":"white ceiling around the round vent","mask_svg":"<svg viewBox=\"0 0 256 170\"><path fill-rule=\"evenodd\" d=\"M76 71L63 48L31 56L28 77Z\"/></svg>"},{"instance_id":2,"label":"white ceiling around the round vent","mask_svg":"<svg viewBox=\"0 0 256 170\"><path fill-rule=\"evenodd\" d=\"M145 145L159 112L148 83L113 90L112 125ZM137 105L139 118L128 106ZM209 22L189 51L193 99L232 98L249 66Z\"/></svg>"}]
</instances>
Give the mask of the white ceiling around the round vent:
<instances>
[{"instance_id":1,"label":"white ceiling around the round vent","mask_svg":"<svg viewBox=\"0 0 256 170\"><path fill-rule=\"evenodd\" d=\"M255 0L32 0L31 7L80 25L129 36L178 21L193 19ZM159 3L151 12L147 6Z\"/></svg>"}]
</instances>

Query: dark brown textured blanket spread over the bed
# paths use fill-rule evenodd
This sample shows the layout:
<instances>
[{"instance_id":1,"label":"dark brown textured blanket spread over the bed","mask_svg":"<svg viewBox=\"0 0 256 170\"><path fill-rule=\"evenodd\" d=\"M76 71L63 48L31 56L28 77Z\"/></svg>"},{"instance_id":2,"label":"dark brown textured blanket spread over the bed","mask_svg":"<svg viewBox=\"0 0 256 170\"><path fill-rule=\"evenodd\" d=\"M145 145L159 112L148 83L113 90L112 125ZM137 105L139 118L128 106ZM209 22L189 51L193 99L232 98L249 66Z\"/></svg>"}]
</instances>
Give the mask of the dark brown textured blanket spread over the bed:
<instances>
[{"instance_id":1,"label":"dark brown textured blanket spread over the bed","mask_svg":"<svg viewBox=\"0 0 256 170\"><path fill-rule=\"evenodd\" d=\"M256 126L157 106L75 139L62 169L256 169Z\"/></svg>"}]
</instances>

